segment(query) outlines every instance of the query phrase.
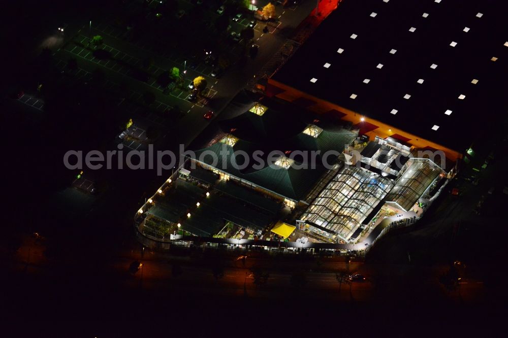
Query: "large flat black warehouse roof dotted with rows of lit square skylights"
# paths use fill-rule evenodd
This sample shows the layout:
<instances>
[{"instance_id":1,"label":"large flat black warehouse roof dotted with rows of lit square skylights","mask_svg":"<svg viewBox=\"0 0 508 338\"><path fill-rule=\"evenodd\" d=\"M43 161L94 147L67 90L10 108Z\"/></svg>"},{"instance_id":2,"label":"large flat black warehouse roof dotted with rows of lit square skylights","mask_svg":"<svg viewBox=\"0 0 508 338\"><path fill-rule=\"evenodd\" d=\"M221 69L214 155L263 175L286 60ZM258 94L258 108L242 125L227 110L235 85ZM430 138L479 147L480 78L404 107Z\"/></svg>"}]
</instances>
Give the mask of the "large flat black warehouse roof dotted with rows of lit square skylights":
<instances>
[{"instance_id":1,"label":"large flat black warehouse roof dotted with rows of lit square skylights","mask_svg":"<svg viewBox=\"0 0 508 338\"><path fill-rule=\"evenodd\" d=\"M344 0L273 79L464 151L507 109L503 6Z\"/></svg>"}]
</instances>

